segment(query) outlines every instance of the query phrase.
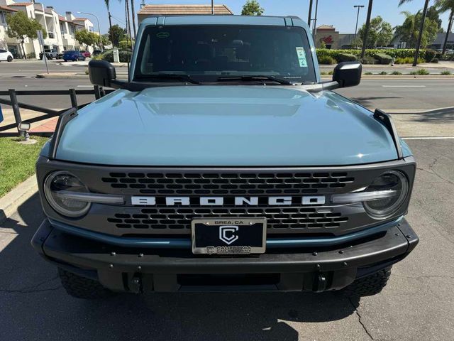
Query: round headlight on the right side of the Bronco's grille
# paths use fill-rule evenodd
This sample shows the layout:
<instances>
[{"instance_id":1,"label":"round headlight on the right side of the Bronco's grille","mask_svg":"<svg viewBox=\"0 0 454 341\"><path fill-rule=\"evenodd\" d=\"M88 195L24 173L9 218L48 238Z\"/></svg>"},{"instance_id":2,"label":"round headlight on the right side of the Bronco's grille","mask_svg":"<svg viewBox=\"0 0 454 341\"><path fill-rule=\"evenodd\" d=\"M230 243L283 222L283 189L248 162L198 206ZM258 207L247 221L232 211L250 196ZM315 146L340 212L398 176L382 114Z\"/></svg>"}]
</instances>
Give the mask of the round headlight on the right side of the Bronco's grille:
<instances>
[{"instance_id":1,"label":"round headlight on the right side of the Bronco's grille","mask_svg":"<svg viewBox=\"0 0 454 341\"><path fill-rule=\"evenodd\" d=\"M409 193L409 182L401 172L387 171L376 178L366 192L382 190L392 190L393 195L362 203L367 214L374 219L386 219L399 210Z\"/></svg>"}]
</instances>

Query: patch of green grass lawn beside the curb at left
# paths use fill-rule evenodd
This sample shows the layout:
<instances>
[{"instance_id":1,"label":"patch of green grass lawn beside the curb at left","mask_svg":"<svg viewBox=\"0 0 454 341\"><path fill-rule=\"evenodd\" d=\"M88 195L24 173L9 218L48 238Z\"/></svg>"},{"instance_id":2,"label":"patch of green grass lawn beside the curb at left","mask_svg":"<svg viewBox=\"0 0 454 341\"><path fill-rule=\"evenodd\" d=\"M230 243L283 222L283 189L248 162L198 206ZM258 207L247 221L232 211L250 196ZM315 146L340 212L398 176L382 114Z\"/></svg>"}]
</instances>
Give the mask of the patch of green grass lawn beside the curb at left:
<instances>
[{"instance_id":1,"label":"patch of green grass lawn beside the curb at left","mask_svg":"<svg viewBox=\"0 0 454 341\"><path fill-rule=\"evenodd\" d=\"M36 144L18 144L16 137L0 138L0 197L35 173L35 163L46 137Z\"/></svg>"}]
</instances>

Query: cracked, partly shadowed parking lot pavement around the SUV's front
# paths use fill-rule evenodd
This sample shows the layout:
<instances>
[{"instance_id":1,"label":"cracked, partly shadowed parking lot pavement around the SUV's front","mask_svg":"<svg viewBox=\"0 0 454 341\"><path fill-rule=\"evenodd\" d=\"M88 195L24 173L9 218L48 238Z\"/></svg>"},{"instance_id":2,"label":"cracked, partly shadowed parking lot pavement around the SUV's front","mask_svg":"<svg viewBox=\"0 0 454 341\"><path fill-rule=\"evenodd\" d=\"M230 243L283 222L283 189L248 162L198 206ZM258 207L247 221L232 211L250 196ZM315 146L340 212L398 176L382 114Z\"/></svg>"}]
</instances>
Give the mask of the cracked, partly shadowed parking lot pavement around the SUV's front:
<instances>
[{"instance_id":1,"label":"cracked, partly shadowed parking lot pavement around the SUV's front","mask_svg":"<svg viewBox=\"0 0 454 341\"><path fill-rule=\"evenodd\" d=\"M418 161L408 220L421 242L387 288L333 293L67 296L30 246L38 196L0 227L0 340L453 340L454 140L408 141Z\"/></svg>"}]
</instances>

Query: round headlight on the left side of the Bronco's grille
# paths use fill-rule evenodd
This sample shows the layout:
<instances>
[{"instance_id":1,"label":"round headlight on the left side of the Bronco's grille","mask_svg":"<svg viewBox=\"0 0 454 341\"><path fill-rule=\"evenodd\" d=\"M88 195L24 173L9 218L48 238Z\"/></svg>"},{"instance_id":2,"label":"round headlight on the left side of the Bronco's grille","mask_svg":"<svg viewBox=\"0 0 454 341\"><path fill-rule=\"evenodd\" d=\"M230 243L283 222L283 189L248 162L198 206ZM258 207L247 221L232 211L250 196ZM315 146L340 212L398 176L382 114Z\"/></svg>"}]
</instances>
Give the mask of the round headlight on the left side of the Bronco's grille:
<instances>
[{"instance_id":1,"label":"round headlight on the left side of the Bronco's grille","mask_svg":"<svg viewBox=\"0 0 454 341\"><path fill-rule=\"evenodd\" d=\"M87 187L74 175L65 171L50 174L44 182L44 194L50 206L67 217L80 217L88 212L90 203L66 198L65 192L89 193Z\"/></svg>"}]
</instances>

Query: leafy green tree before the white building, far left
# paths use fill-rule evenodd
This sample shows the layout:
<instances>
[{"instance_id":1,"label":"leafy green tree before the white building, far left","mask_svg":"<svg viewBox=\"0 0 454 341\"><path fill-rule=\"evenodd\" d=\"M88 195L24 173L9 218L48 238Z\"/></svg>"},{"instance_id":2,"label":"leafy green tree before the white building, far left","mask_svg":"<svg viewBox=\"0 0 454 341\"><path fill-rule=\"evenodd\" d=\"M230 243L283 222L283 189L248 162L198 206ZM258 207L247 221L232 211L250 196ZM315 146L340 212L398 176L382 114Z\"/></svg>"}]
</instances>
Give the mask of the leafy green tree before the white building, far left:
<instances>
[{"instance_id":1,"label":"leafy green tree before the white building, far left","mask_svg":"<svg viewBox=\"0 0 454 341\"><path fill-rule=\"evenodd\" d=\"M48 33L44 30L43 26L35 19L28 18L25 12L19 11L16 14L8 14L6 16L6 23L8 30L6 34L9 38L16 38L21 43L23 58L27 59L26 50L23 47L23 42L26 38L36 39L38 34L36 31L43 31L43 37L46 38Z\"/></svg>"}]
</instances>

